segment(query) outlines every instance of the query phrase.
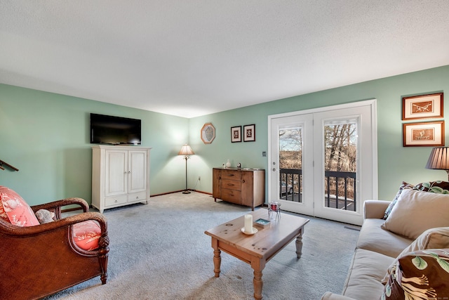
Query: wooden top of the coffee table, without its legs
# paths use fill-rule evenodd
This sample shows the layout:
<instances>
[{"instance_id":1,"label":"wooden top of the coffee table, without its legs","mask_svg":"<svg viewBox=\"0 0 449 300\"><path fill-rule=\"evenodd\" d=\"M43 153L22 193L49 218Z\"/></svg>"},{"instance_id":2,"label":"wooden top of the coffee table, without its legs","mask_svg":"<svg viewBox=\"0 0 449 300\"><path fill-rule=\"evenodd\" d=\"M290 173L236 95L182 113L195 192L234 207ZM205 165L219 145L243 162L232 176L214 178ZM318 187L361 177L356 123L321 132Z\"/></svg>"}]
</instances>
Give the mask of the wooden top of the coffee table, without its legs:
<instances>
[{"instance_id":1,"label":"wooden top of the coffee table, without its legs","mask_svg":"<svg viewBox=\"0 0 449 300\"><path fill-rule=\"evenodd\" d=\"M253 215L253 221L257 219L269 220L266 226L253 222L253 227L257 228L254 235L246 235L241 232L245 224L245 216L241 216L232 221L222 223L219 226L206 230L204 233L217 239L219 242L229 244L236 249L250 254L251 256L267 259L267 261L283 247L286 247L297 235L302 233L309 219L300 216L293 216L281 212L280 219L269 219L268 209L257 209L248 212Z\"/></svg>"}]
</instances>

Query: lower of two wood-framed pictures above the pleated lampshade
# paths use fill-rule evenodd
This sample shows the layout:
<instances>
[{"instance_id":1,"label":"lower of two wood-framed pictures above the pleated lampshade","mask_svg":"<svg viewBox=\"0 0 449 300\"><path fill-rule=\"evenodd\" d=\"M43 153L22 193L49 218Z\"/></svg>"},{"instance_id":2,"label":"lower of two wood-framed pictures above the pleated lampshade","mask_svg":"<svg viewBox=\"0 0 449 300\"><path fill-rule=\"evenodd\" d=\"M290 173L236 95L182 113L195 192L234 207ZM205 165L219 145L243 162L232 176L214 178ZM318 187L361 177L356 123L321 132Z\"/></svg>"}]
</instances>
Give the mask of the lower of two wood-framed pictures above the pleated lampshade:
<instances>
[{"instance_id":1,"label":"lower of two wood-framed pictures above the pleated lampshade","mask_svg":"<svg viewBox=\"0 0 449 300\"><path fill-rule=\"evenodd\" d=\"M404 147L444 145L444 121L403 124Z\"/></svg>"}]
</instances>

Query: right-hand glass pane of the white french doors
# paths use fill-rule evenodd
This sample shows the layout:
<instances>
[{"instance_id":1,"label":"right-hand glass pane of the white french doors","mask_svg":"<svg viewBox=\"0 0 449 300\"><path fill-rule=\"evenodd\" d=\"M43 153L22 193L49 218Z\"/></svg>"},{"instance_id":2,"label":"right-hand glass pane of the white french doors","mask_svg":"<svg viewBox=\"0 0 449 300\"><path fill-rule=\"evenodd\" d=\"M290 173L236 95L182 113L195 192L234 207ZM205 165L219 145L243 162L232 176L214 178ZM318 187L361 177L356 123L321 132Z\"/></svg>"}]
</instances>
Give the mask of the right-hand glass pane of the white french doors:
<instances>
[{"instance_id":1,"label":"right-hand glass pane of the white french doors","mask_svg":"<svg viewBox=\"0 0 449 300\"><path fill-rule=\"evenodd\" d=\"M324 147L324 206L356 211L356 120L325 122Z\"/></svg>"}]
</instances>

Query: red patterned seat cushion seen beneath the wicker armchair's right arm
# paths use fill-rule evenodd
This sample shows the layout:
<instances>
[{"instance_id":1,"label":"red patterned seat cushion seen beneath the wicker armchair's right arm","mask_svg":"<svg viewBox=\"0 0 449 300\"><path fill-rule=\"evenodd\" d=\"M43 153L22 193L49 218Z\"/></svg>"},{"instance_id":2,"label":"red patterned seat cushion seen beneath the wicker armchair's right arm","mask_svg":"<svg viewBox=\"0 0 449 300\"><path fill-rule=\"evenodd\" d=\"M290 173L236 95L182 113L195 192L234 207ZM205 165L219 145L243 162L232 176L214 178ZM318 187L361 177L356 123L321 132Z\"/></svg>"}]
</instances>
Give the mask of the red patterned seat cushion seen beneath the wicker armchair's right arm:
<instances>
[{"instance_id":1,"label":"red patterned seat cushion seen beneath the wicker armchair's right arm","mask_svg":"<svg viewBox=\"0 0 449 300\"><path fill-rule=\"evenodd\" d=\"M89 220L73 225L75 244L81 249L90 251L98 248L101 228L97 222Z\"/></svg>"}]
</instances>

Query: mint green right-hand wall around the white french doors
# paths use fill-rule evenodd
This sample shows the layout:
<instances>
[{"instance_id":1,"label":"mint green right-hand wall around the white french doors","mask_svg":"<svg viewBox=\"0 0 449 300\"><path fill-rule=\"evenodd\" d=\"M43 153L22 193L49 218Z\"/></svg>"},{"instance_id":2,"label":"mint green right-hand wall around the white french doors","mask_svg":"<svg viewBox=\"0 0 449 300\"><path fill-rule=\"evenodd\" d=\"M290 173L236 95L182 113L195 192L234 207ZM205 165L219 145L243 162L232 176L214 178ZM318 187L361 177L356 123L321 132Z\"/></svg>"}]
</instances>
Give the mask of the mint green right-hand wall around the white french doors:
<instances>
[{"instance_id":1,"label":"mint green right-hand wall around the white french doors","mask_svg":"<svg viewBox=\"0 0 449 300\"><path fill-rule=\"evenodd\" d=\"M192 118L190 143L197 157L192 156L189 162L191 181L201 176L201 185L196 188L211 192L211 168L220 167L228 158L233 166L241 162L243 167L267 169L267 157L262 157L262 151L268 150L269 115L377 98L379 198L391 200L402 181L447 180L445 171L424 169L431 148L403 147L401 121L403 96L444 91L449 91L449 66ZM449 115L449 105L444 105L444 115ZM211 122L216 130L215 140L208 145L202 143L199 135L206 122ZM246 124L256 124L256 141L231 143L231 127ZM448 125L445 124L445 132L449 132Z\"/></svg>"}]
</instances>

